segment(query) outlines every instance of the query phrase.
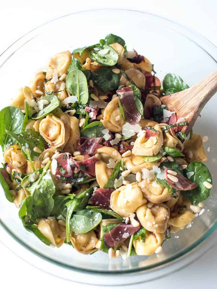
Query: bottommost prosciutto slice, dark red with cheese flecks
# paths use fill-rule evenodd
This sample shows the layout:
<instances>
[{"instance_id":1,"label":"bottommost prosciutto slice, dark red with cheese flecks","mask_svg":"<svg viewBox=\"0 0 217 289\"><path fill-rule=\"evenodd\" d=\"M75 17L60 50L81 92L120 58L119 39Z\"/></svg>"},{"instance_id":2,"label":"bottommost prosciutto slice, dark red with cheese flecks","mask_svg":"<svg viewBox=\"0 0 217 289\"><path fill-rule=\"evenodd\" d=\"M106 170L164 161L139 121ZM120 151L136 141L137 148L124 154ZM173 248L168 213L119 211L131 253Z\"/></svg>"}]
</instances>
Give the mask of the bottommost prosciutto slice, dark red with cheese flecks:
<instances>
[{"instance_id":1,"label":"bottommost prosciutto slice, dark red with cheese flecks","mask_svg":"<svg viewBox=\"0 0 217 289\"><path fill-rule=\"evenodd\" d=\"M139 230L139 227L134 227L132 225L126 225L125 223L120 223L114 227L111 231L104 234L104 241L109 247L114 247L119 243L124 242L132 234Z\"/></svg>"}]
</instances>

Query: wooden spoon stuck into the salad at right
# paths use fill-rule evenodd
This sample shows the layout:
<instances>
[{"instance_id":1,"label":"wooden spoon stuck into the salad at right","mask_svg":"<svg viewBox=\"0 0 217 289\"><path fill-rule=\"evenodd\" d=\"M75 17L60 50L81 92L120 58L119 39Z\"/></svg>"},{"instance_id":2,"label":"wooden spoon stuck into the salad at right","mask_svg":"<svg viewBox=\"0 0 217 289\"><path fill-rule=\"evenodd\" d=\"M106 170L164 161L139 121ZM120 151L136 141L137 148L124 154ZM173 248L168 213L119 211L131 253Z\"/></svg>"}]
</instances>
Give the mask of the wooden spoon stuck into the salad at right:
<instances>
[{"instance_id":1,"label":"wooden spoon stuck into the salad at right","mask_svg":"<svg viewBox=\"0 0 217 289\"><path fill-rule=\"evenodd\" d=\"M184 117L187 126L181 132L188 135L205 104L217 92L217 70L200 83L180 92L160 98L177 116Z\"/></svg>"}]
</instances>

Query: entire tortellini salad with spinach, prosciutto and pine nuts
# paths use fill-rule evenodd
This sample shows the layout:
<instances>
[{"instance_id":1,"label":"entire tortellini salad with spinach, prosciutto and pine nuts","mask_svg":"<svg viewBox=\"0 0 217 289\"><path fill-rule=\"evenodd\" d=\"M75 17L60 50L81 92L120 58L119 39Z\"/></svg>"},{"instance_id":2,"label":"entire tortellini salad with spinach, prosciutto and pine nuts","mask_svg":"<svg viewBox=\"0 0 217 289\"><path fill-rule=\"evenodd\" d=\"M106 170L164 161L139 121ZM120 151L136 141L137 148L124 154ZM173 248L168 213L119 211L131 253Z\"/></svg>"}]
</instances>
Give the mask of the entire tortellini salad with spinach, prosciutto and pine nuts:
<instances>
[{"instance_id":1,"label":"entire tortellini salad with spinach, prosciutto and pine nuts","mask_svg":"<svg viewBox=\"0 0 217 289\"><path fill-rule=\"evenodd\" d=\"M109 258L162 252L210 195L200 134L160 97L188 88L108 34L54 55L0 112L0 182L43 243ZM73 249L72 249L73 250Z\"/></svg>"}]
</instances>

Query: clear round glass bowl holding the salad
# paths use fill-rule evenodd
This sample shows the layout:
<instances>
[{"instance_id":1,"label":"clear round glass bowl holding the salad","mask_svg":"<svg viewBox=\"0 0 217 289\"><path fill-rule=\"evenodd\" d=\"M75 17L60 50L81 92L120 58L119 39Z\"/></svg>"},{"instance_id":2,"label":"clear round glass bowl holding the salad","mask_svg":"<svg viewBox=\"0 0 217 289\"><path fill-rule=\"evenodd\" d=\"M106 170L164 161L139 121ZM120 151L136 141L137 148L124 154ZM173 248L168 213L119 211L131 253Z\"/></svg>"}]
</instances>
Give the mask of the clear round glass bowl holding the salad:
<instances>
[{"instance_id":1,"label":"clear round glass bowl holding the salad","mask_svg":"<svg viewBox=\"0 0 217 289\"><path fill-rule=\"evenodd\" d=\"M97 43L108 33L120 35L125 39L128 50L135 48L138 53L146 56L154 64L157 77L161 80L166 73L174 72L191 86L217 69L217 48L204 37L174 22L156 15L123 9L83 11L39 26L21 37L0 56L2 95L0 108L7 106L11 98L16 95L17 89L28 85L36 72L46 68L52 55ZM206 149L210 147L207 153L207 166L214 176L211 196L204 202L205 212L195 217L193 226L179 231L176 238L172 235L170 241L163 244L163 253L149 257L133 256L126 260L117 258L110 261L108 255L103 252L82 255L68 245L63 245L59 249L48 247L23 228L18 210L14 204L7 201L1 189L0 223L21 245L18 246L16 253L20 255L19 252L28 249L31 254L40 257L41 262L38 264L43 263L42 259L46 262L47 267L44 266L44 269L48 272L53 273L51 268L55 266L59 270L55 269L54 274L63 277L64 273L58 272L64 272L62 269L64 268L69 272L70 279L95 284L99 283L96 274L117 280L120 274L129 277L136 273L143 273L142 280L147 281L154 278L153 276L158 276L157 271L166 266L170 266L172 271L172 268L176 268L174 262L187 258L189 252L204 242L217 226L216 104L217 101L213 97L203 109L193 129L194 133L209 137L209 142L205 146ZM205 247L205 243L200 247ZM29 262L32 263L33 260L34 258L29 259ZM74 274L75 271L77 274ZM78 280L76 276L80 276L79 272L91 276L91 281L88 278ZM127 277L125 277L122 283L126 283Z\"/></svg>"}]
</instances>

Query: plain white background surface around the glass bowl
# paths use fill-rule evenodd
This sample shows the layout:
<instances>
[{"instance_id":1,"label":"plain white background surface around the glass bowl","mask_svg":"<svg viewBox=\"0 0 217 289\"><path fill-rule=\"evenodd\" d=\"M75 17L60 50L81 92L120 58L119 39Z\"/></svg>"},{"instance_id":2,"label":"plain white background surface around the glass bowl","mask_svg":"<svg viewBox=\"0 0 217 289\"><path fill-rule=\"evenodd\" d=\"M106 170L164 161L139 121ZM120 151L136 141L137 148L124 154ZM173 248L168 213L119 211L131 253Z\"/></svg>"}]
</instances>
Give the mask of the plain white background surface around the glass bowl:
<instances>
[{"instance_id":1,"label":"plain white background surface around the glass bowl","mask_svg":"<svg viewBox=\"0 0 217 289\"><path fill-rule=\"evenodd\" d=\"M44 22L76 11L94 8L126 8L161 15L197 30L217 46L216 0L8 0L0 3L0 54L19 37ZM27 287L31 289L40 287L89 289L94 287L56 278L34 268L15 256L2 244L1 240L4 240L4 234L0 235L0 289L13 287L18 289ZM195 287L200 289L205 286L214 289L217 288L216 267L217 246L179 272L156 281L129 287L118 287L118 289L135 287L137 289L144 287L167 289ZM101 287L95 286L94 288Z\"/></svg>"}]
</instances>

